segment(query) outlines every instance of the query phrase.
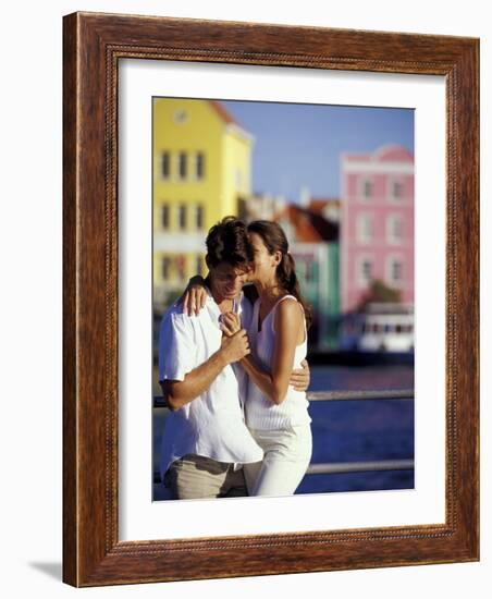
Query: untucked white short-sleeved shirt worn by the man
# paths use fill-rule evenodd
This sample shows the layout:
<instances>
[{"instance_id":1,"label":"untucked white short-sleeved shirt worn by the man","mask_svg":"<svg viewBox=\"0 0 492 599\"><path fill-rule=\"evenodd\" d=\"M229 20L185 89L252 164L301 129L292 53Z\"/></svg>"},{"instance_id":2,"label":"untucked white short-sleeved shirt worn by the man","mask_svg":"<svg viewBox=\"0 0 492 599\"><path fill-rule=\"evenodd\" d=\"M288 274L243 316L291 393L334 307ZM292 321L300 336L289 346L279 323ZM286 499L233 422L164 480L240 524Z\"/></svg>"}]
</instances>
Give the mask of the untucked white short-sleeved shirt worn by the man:
<instances>
[{"instance_id":1,"label":"untucked white short-sleeved shirt worn by the man","mask_svg":"<svg viewBox=\"0 0 492 599\"><path fill-rule=\"evenodd\" d=\"M221 311L209 290L207 293L206 306L198 316L182 314L181 305L165 313L159 335L159 380L183 381L220 350ZM243 294L235 302L235 311L247 329L251 306ZM261 461L263 452L244 421L246 396L246 374L227 365L201 395L171 412L162 437L161 476L172 462L186 454L235 464Z\"/></svg>"}]
</instances>

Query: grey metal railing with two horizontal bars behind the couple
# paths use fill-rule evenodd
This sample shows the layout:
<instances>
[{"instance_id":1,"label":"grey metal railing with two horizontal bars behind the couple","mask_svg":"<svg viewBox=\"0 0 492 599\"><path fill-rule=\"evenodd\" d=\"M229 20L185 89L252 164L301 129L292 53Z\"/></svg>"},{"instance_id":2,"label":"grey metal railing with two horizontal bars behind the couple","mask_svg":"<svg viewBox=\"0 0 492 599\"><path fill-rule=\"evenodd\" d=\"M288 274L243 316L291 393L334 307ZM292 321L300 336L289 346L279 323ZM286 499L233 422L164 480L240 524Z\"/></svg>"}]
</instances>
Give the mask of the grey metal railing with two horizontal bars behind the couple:
<instances>
[{"instance_id":1,"label":"grey metal railing with two horizontal bars behind the couple","mask_svg":"<svg viewBox=\"0 0 492 599\"><path fill-rule=\"evenodd\" d=\"M366 400L414 400L413 389L392 391L311 391L307 393L309 402L341 402ZM153 398L153 407L168 407L164 398ZM334 462L310 464L306 474L349 474L362 472L413 470L414 460L377 460L368 462ZM160 482L160 474L153 473L153 481Z\"/></svg>"}]
</instances>

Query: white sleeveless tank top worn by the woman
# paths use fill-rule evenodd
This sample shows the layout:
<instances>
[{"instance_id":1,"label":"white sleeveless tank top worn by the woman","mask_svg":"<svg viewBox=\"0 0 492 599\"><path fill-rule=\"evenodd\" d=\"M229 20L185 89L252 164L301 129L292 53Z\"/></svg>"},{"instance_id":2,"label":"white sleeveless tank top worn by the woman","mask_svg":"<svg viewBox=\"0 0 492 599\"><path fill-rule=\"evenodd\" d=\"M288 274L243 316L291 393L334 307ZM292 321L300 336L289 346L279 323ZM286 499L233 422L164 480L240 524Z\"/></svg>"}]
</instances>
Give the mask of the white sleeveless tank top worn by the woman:
<instances>
[{"instance_id":1,"label":"white sleeveless tank top worn by the woman","mask_svg":"<svg viewBox=\"0 0 492 599\"><path fill-rule=\"evenodd\" d=\"M269 311L258 330L258 320L261 302L258 298L253 308L253 318L248 329L249 345L255 360L268 372L271 371L273 349L275 343L275 311L279 304L293 295L282 296ZM297 345L294 355L294 368L300 368L300 363L307 354L306 321L304 323L304 341ZM246 401L246 425L258 430L274 430L290 426L306 425L311 421L308 414L308 401L304 391L295 391L291 386L287 389L285 400L275 405L255 384L253 379L248 382L248 395Z\"/></svg>"}]
</instances>

